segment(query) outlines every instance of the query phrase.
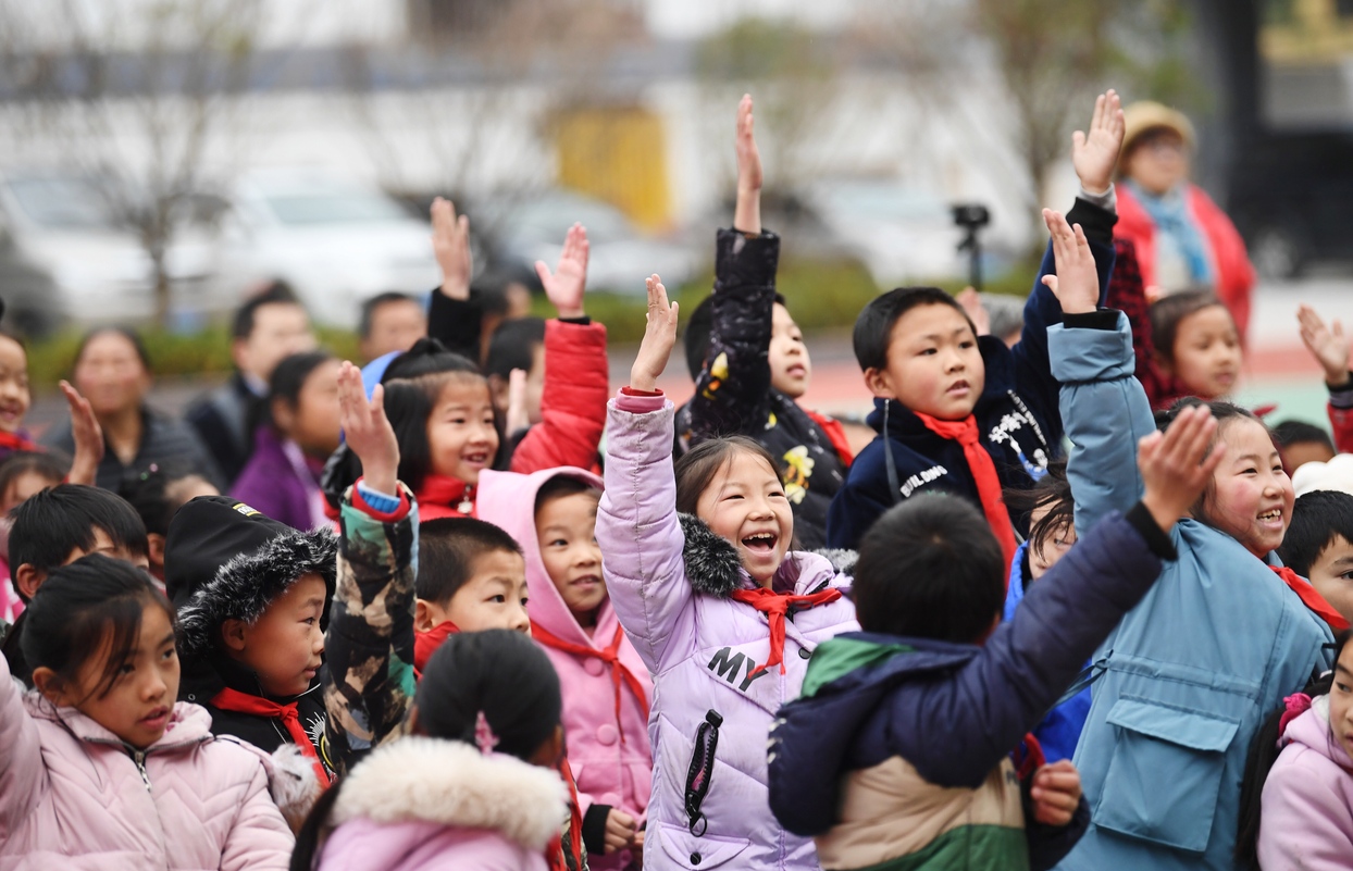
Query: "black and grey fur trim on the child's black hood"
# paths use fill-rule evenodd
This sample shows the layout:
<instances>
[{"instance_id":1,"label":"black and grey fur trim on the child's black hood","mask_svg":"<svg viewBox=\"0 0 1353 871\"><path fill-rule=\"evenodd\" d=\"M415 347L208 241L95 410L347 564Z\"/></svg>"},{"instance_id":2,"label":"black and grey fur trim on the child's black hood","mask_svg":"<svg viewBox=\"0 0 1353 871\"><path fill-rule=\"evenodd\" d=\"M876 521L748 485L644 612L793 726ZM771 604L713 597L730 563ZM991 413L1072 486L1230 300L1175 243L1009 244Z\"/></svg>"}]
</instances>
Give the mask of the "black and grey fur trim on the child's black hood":
<instances>
[{"instance_id":1,"label":"black and grey fur trim on the child's black hood","mask_svg":"<svg viewBox=\"0 0 1353 871\"><path fill-rule=\"evenodd\" d=\"M338 537L329 529L291 530L252 553L237 553L179 609L180 652L189 657L206 655L211 651L212 634L225 621L254 622L302 575L323 578L326 601L331 599L337 560ZM327 603L322 622L329 622Z\"/></svg>"}]
</instances>

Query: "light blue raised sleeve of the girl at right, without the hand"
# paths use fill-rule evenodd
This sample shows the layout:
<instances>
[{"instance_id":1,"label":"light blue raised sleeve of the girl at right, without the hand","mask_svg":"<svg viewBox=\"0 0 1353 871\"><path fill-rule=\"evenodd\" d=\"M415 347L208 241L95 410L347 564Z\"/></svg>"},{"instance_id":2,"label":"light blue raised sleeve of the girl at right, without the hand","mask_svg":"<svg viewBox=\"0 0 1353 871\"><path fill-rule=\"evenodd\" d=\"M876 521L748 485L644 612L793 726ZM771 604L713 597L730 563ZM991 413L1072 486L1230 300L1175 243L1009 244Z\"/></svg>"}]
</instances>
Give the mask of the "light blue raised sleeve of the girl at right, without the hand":
<instances>
[{"instance_id":1,"label":"light blue raised sleeve of the girl at right, without the hand","mask_svg":"<svg viewBox=\"0 0 1353 871\"><path fill-rule=\"evenodd\" d=\"M1155 429L1155 419L1132 375L1132 334L1123 314L1116 330L1054 326L1047 339L1072 442L1066 477L1076 499L1076 532L1084 536L1105 514L1127 511L1142 496L1137 441Z\"/></svg>"}]
</instances>

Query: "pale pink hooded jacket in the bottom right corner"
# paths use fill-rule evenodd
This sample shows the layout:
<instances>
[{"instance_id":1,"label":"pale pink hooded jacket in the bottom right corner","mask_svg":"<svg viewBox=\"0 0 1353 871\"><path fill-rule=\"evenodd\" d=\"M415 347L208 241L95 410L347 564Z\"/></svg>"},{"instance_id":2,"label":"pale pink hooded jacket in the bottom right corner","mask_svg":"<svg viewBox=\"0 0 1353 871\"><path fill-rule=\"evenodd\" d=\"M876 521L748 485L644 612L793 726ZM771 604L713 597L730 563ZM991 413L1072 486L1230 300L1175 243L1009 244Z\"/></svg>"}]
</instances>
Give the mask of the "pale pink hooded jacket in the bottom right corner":
<instances>
[{"instance_id":1,"label":"pale pink hooded jacket in the bottom right corner","mask_svg":"<svg viewBox=\"0 0 1353 871\"><path fill-rule=\"evenodd\" d=\"M1330 732L1330 697L1287 725L1264 782L1264 871L1346 871L1353 857L1353 760Z\"/></svg>"}]
</instances>

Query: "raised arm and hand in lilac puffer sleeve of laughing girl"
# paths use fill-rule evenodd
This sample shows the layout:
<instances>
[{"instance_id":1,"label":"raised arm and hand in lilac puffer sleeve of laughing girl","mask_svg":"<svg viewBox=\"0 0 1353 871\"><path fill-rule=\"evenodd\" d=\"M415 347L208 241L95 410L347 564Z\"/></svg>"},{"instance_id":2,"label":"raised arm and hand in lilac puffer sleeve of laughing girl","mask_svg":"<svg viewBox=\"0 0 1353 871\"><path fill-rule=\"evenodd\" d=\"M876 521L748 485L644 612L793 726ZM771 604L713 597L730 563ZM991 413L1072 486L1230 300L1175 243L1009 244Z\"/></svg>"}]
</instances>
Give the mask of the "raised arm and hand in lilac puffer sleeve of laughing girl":
<instances>
[{"instance_id":1,"label":"raised arm and hand in lilac puffer sleeve of laughing girl","mask_svg":"<svg viewBox=\"0 0 1353 871\"><path fill-rule=\"evenodd\" d=\"M652 672L678 641L691 602L676 519L672 475L672 406L658 391L676 344L676 303L658 276L648 279L648 326L629 373L612 400L606 425L606 490L597 509L597 542L612 606Z\"/></svg>"}]
</instances>

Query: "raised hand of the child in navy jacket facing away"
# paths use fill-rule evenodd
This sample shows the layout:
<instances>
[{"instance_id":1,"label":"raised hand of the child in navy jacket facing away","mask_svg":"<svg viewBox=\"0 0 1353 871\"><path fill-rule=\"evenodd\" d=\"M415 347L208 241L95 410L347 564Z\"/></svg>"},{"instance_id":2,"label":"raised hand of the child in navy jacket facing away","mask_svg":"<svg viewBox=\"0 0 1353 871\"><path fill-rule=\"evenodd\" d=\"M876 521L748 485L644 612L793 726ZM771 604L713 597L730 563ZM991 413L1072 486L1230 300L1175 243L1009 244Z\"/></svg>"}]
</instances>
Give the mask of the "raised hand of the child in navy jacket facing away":
<instances>
[{"instance_id":1,"label":"raised hand of the child in navy jacket facing away","mask_svg":"<svg viewBox=\"0 0 1353 871\"><path fill-rule=\"evenodd\" d=\"M1165 433L1151 433L1137 444L1137 467L1146 492L1142 504L1161 529L1174 522L1203 495L1226 445L1216 438L1216 419L1207 406L1181 410Z\"/></svg>"}]
</instances>

